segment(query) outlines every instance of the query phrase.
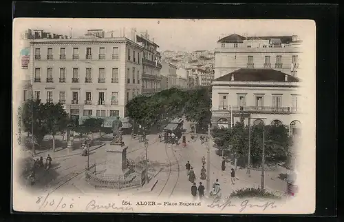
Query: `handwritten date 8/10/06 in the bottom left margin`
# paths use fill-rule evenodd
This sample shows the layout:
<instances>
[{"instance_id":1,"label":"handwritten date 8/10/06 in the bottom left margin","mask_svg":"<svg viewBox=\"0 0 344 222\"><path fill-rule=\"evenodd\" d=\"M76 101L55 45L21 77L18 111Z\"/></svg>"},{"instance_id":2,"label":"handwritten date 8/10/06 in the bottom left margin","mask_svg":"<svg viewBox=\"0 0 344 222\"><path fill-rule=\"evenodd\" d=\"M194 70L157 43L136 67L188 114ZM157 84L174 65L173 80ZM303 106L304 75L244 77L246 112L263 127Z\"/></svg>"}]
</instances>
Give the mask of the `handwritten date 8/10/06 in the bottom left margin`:
<instances>
[{"instance_id":1,"label":"handwritten date 8/10/06 in the bottom left margin","mask_svg":"<svg viewBox=\"0 0 344 222\"><path fill-rule=\"evenodd\" d=\"M48 199L47 196L37 197L36 204L40 205L39 209L48 209L48 210L68 210L74 208L74 200L65 201L64 197L58 199Z\"/></svg>"}]
</instances>

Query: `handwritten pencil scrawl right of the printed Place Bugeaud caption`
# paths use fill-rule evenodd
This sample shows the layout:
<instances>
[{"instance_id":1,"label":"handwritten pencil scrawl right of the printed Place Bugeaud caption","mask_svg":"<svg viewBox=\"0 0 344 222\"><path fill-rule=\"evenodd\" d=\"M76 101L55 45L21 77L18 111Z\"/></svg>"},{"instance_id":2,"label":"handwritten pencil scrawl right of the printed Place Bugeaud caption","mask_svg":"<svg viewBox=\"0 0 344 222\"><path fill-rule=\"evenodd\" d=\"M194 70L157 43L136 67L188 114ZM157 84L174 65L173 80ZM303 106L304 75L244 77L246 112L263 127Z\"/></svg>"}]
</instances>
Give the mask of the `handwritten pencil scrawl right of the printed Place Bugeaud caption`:
<instances>
[{"instance_id":1,"label":"handwritten pencil scrawl right of the printed Place Bugeaud caption","mask_svg":"<svg viewBox=\"0 0 344 222\"><path fill-rule=\"evenodd\" d=\"M233 204L230 199L226 199L226 201L221 203L220 199L214 199L213 203L207 205L208 208L219 208L224 210L228 207L240 207L239 212L243 212L246 208L261 208L261 210L266 210L268 208L277 208L275 205L275 201L263 201L264 203L261 204L252 204L250 200L246 199L240 203L240 205Z\"/></svg>"}]
</instances>

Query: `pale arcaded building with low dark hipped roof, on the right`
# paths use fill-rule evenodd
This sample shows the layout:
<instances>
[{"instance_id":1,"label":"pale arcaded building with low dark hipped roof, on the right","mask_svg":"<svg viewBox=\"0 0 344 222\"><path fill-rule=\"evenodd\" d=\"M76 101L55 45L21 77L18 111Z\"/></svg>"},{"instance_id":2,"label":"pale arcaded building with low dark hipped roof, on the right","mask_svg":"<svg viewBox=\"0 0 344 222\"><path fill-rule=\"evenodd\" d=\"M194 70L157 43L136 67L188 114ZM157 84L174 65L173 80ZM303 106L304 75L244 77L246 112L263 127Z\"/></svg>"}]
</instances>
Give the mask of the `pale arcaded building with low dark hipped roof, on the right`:
<instances>
[{"instance_id":1,"label":"pale arcaded building with low dark hipped roof, on the right","mask_svg":"<svg viewBox=\"0 0 344 222\"><path fill-rule=\"evenodd\" d=\"M239 69L212 83L212 125L228 127L244 117L250 125L283 124L299 134L303 117L300 82L272 69Z\"/></svg>"}]
</instances>

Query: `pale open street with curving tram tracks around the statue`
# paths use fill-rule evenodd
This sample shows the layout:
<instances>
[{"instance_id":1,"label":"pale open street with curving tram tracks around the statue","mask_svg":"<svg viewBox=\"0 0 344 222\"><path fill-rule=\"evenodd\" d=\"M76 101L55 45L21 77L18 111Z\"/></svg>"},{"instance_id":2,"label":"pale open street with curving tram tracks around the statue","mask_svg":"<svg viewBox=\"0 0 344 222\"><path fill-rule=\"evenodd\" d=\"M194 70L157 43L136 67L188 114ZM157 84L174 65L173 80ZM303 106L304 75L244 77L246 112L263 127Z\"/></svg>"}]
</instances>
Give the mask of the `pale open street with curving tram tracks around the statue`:
<instances>
[{"instance_id":1,"label":"pale open street with curving tram tracks around the statue","mask_svg":"<svg viewBox=\"0 0 344 222\"><path fill-rule=\"evenodd\" d=\"M105 137L111 137L106 135ZM172 198L173 196L191 196L191 185L188 176L186 175L185 164L190 161L193 168L197 186L200 182L206 187L206 180L200 179L200 171L202 169L202 157L206 157L206 145L201 144L200 140L189 142L185 148L182 144L172 145L170 143L160 142L158 135L148 135L149 147L147 148L148 159L153 163L155 168L155 175L142 188L135 188L131 190L105 190L95 189L85 181L85 166L87 165L87 157L80 155L80 150L68 153L68 150L61 150L59 152L51 152L50 156L53 159L53 168L57 176L50 183L45 190L49 192L63 192L63 193L80 193L80 194L109 194L117 193L127 194L130 192L134 195L149 195L162 196L164 198ZM130 135L123 137L125 144L129 146L127 149L127 157L129 159L136 159L145 155L143 143L139 143L138 139L131 139ZM89 164L102 163L106 160L106 147L109 141L98 147L90 148ZM211 148L211 172L207 172L210 176L211 184L216 179L219 180L222 188L222 195L228 196L233 190L240 188L258 188L260 186L260 171L251 170L251 176L248 177L246 170L236 170L235 184L230 181L230 169L233 165L226 163L226 170L221 170L222 157L215 153L215 148ZM270 175L271 174L271 175ZM272 178L276 176L275 178ZM277 179L277 172L266 172L266 189L283 193L285 191L285 182ZM154 185L155 184L155 185ZM154 185L154 186L153 186ZM153 189L152 189L153 188Z\"/></svg>"}]
</instances>

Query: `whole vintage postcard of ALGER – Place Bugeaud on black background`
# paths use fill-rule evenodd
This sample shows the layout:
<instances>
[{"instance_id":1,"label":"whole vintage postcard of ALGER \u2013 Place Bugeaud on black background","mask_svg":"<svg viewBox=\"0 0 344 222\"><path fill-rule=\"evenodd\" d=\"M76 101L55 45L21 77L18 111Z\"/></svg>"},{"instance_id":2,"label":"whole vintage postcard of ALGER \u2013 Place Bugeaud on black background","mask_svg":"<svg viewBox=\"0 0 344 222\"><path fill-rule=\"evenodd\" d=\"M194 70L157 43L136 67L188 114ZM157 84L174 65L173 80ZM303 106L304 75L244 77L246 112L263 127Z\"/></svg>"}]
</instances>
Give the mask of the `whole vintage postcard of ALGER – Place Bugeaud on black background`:
<instances>
[{"instance_id":1,"label":"whole vintage postcard of ALGER \u2013 Place Bugeaud on black background","mask_svg":"<svg viewBox=\"0 0 344 222\"><path fill-rule=\"evenodd\" d=\"M314 212L314 21L13 27L14 211Z\"/></svg>"}]
</instances>

